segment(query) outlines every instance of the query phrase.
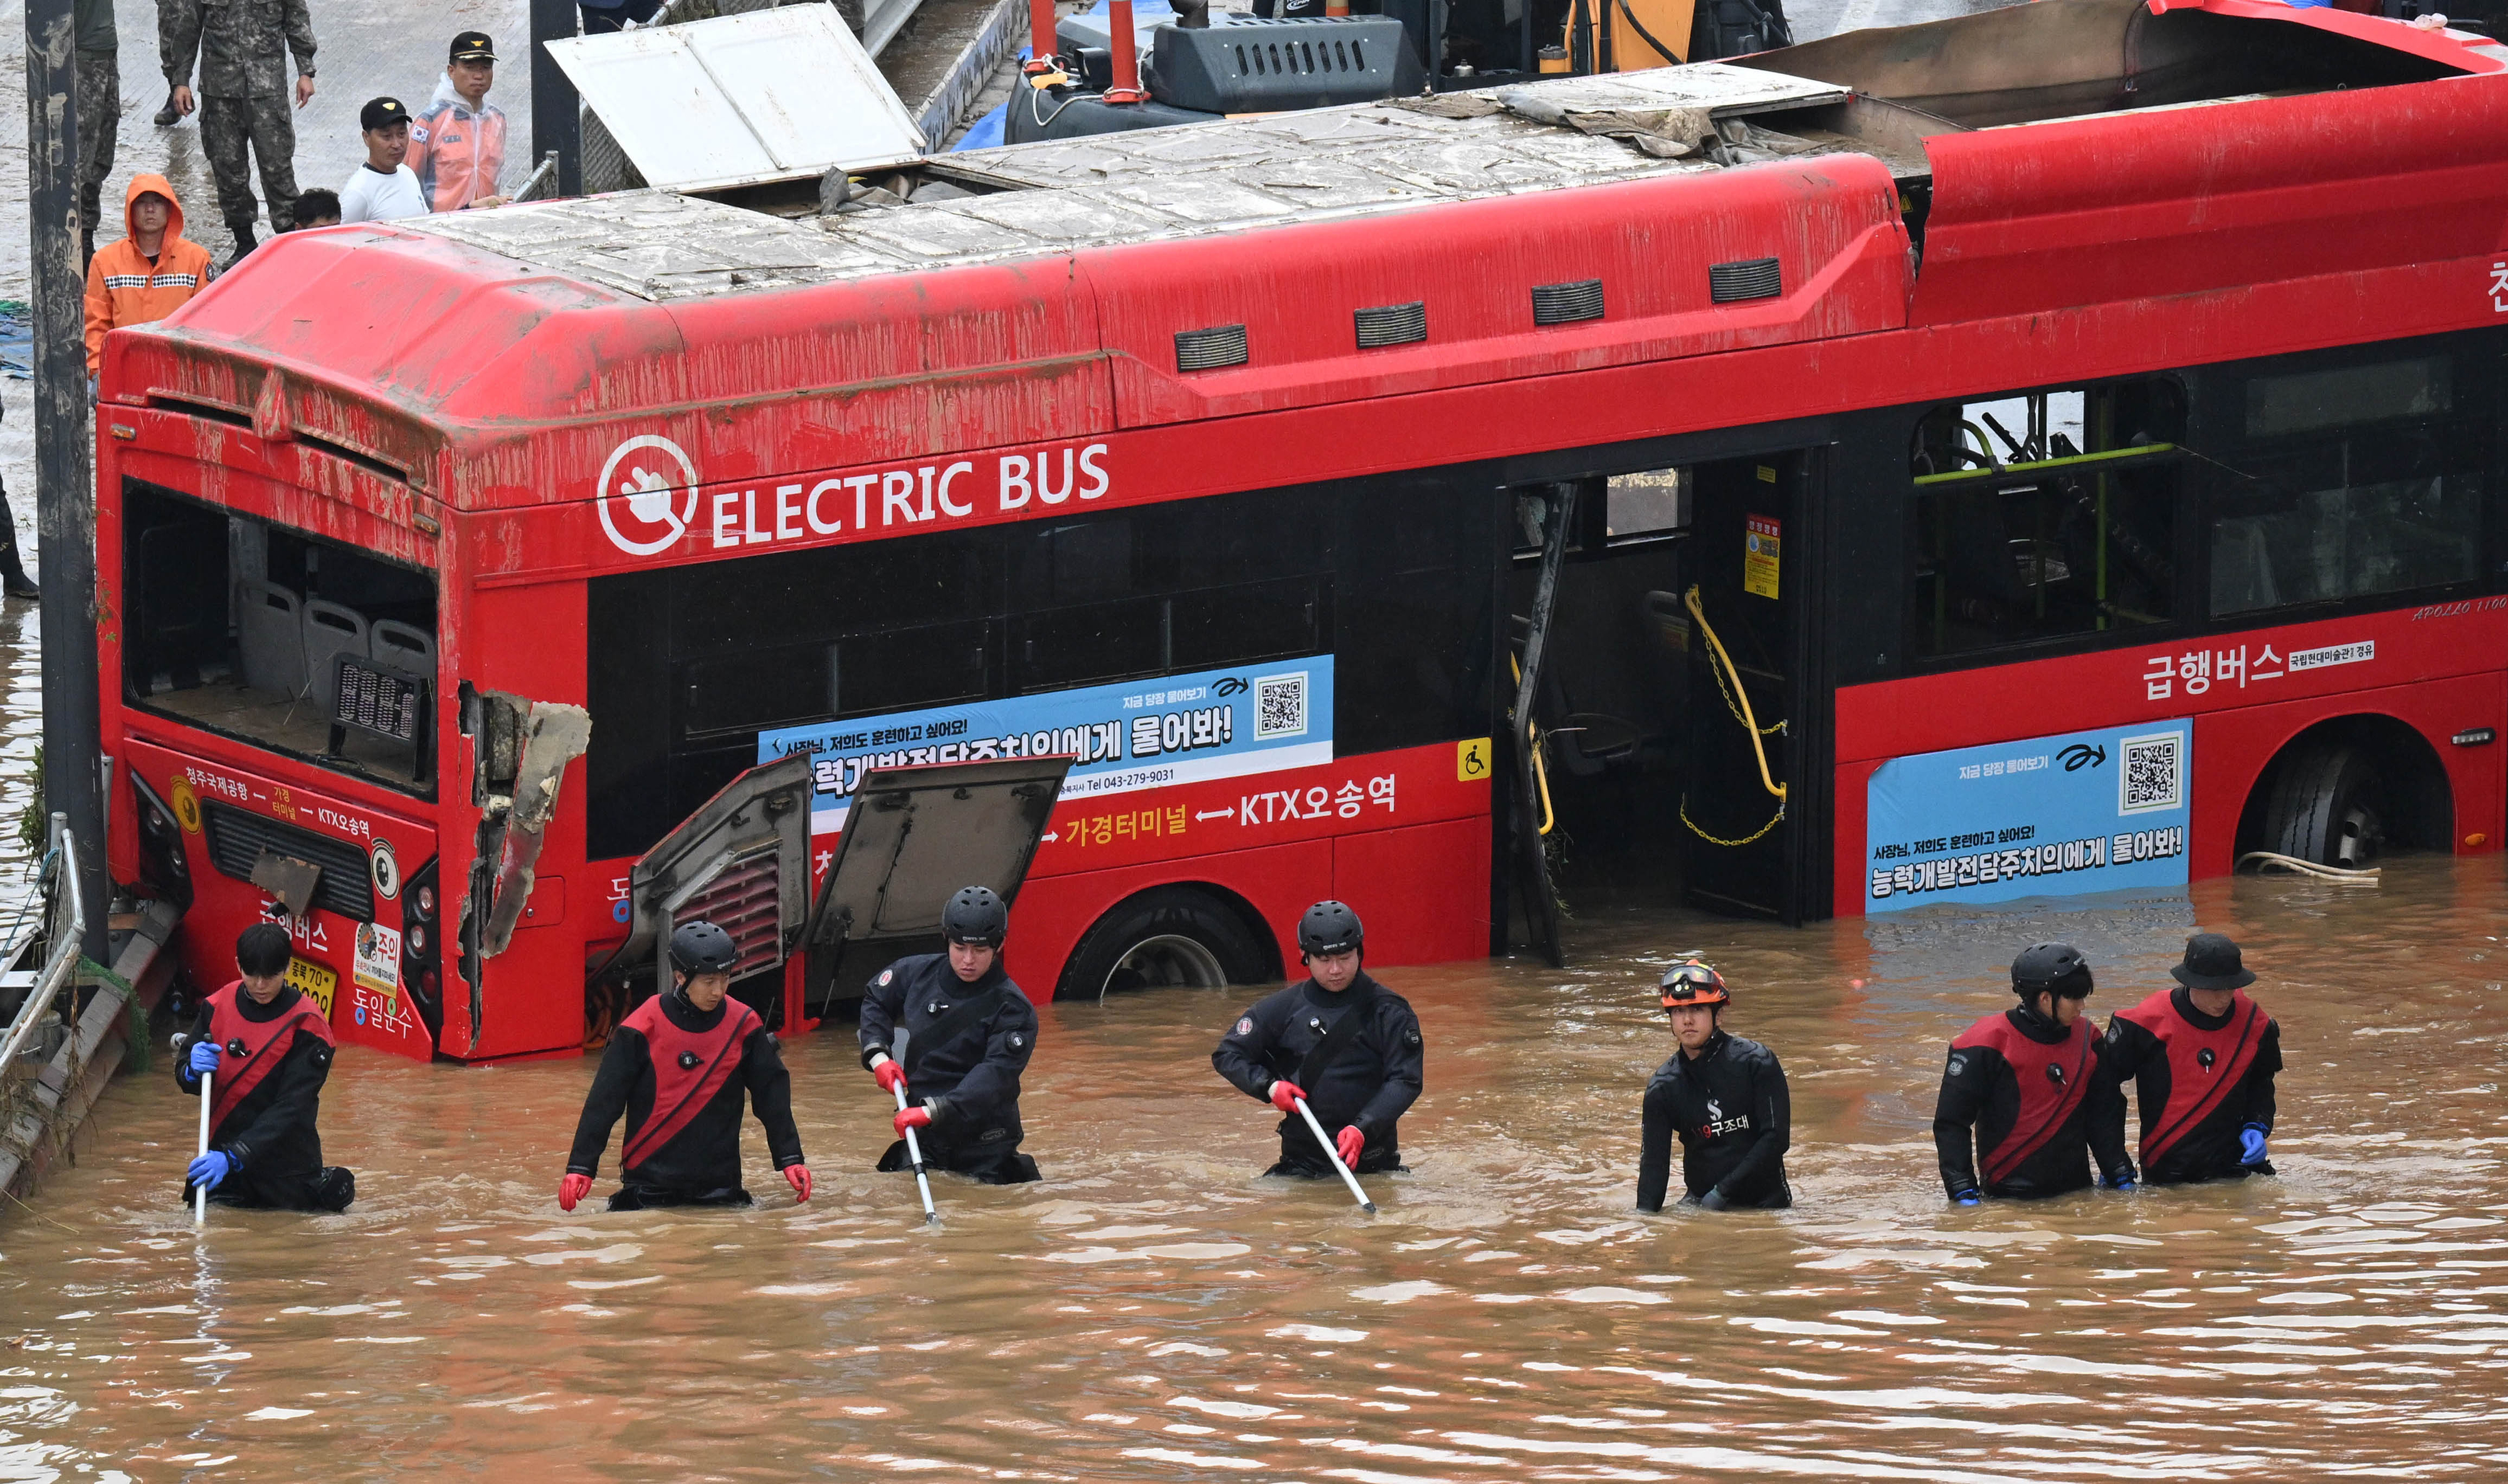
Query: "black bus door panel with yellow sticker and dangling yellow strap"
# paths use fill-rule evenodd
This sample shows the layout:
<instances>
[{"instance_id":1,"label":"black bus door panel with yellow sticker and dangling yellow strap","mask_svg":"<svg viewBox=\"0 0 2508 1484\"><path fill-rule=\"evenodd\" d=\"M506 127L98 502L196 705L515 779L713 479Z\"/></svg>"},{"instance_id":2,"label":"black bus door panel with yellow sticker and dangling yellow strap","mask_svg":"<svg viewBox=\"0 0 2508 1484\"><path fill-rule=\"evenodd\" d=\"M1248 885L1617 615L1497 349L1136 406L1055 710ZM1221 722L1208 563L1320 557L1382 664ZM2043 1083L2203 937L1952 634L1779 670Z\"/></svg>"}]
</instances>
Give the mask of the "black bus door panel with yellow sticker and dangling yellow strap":
<instances>
[{"instance_id":1,"label":"black bus door panel with yellow sticker and dangling yellow strap","mask_svg":"<svg viewBox=\"0 0 2508 1484\"><path fill-rule=\"evenodd\" d=\"M1811 451L1698 464L1690 516L1693 592L1705 624L1690 637L1700 674L1690 679L1685 727L1683 892L1700 907L1788 925L1806 917L1808 900L1796 727L1813 709L1798 642L1803 574L1813 567L1803 549L1813 479ZM1768 782L1796 797L1781 802Z\"/></svg>"}]
</instances>

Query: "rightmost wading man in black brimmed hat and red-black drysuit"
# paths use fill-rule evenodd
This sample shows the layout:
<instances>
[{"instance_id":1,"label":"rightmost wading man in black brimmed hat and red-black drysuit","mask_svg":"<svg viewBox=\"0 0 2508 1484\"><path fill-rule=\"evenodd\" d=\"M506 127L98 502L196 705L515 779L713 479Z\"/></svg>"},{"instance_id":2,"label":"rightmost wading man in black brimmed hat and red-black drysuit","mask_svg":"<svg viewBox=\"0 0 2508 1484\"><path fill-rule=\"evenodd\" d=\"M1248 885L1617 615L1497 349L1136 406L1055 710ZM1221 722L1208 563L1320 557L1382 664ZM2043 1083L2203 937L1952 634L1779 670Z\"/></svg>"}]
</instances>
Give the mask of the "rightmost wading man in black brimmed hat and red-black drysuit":
<instances>
[{"instance_id":1,"label":"rightmost wading man in black brimmed hat and red-black drysuit","mask_svg":"<svg viewBox=\"0 0 2508 1484\"><path fill-rule=\"evenodd\" d=\"M2270 1176L2272 1078L2282 1070L2282 1028L2245 995L2255 973L2220 933L2187 938L2159 990L2107 1023L2107 1068L2137 1083L2142 1178L2154 1186ZM2122 1090L2109 1108L2124 1141Z\"/></svg>"}]
</instances>

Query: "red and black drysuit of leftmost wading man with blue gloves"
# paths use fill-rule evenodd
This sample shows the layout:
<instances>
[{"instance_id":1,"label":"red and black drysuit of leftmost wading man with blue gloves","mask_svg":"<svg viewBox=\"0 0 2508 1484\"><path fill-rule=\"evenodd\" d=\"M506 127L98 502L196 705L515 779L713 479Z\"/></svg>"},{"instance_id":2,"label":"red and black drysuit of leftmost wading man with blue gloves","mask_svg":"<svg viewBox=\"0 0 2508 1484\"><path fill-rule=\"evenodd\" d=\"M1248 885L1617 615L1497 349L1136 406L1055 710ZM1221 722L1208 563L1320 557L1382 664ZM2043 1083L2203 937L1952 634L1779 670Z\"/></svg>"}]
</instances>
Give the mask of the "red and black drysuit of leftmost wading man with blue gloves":
<instances>
[{"instance_id":1,"label":"red and black drysuit of leftmost wading man with blue gloves","mask_svg":"<svg viewBox=\"0 0 2508 1484\"><path fill-rule=\"evenodd\" d=\"M218 1045L211 1075L208 1148L236 1168L208 1193L221 1206L273 1211L346 1211L356 1176L321 1163L321 1085L331 1078L331 1023L321 1005L283 988L268 1005L236 980L201 1000L193 1040ZM201 1095L191 1055L178 1055L173 1083ZM191 1186L183 1186L191 1201Z\"/></svg>"}]
</instances>

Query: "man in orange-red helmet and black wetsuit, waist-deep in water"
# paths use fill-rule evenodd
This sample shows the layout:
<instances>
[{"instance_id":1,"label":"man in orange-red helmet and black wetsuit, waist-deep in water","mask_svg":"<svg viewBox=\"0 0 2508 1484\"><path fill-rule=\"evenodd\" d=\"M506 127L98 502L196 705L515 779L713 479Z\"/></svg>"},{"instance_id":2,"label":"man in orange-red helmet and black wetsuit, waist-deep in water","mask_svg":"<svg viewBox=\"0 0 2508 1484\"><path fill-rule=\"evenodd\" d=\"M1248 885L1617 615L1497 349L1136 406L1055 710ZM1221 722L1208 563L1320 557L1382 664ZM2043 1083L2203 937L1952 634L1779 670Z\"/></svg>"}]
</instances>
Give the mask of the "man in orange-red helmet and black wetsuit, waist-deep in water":
<instances>
[{"instance_id":1,"label":"man in orange-red helmet and black wetsuit, waist-deep in water","mask_svg":"<svg viewBox=\"0 0 2508 1484\"><path fill-rule=\"evenodd\" d=\"M1786 1146L1793 1103L1786 1068L1756 1040L1728 1035L1733 1003L1723 975L1695 958L1663 975L1663 1013L1680 1050L1645 1083L1645 1133L1638 1143L1638 1211L1663 1211L1680 1133L1683 1206L1708 1211L1793 1206Z\"/></svg>"}]
</instances>

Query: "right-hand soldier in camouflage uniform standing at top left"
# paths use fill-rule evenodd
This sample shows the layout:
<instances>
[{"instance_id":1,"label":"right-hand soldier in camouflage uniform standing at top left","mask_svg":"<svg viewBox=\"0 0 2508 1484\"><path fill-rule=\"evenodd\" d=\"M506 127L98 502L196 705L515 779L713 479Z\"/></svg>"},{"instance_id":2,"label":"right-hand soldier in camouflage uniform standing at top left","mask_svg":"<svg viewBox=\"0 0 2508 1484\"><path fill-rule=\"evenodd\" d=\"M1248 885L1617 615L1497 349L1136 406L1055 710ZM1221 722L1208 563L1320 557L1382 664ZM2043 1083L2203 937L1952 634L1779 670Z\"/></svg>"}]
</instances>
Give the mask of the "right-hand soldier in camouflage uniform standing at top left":
<instances>
[{"instance_id":1,"label":"right-hand soldier in camouflage uniform standing at top left","mask_svg":"<svg viewBox=\"0 0 2508 1484\"><path fill-rule=\"evenodd\" d=\"M314 13L306 0L158 0L158 58L173 103L191 113L191 63L201 60L201 153L218 180L218 213L236 233L236 256L253 251L253 180L243 150L261 163L271 231L296 213L296 120L288 118L288 53L296 53L296 108L314 98Z\"/></svg>"}]
</instances>

